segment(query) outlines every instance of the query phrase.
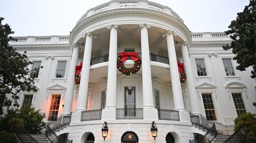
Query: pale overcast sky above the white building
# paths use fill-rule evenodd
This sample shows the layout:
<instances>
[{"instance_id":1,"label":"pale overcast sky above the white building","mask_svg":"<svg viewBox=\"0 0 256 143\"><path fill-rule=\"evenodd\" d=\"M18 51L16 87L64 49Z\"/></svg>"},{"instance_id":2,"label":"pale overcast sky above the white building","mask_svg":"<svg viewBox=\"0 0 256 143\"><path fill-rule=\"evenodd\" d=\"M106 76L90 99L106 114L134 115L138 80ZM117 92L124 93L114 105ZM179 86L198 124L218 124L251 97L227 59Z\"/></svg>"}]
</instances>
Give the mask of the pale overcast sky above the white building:
<instances>
[{"instance_id":1,"label":"pale overcast sky above the white building","mask_svg":"<svg viewBox=\"0 0 256 143\"><path fill-rule=\"evenodd\" d=\"M223 32L249 0L149 0L166 5L191 32ZM69 35L90 8L109 0L0 0L0 16L13 36Z\"/></svg>"}]
</instances>

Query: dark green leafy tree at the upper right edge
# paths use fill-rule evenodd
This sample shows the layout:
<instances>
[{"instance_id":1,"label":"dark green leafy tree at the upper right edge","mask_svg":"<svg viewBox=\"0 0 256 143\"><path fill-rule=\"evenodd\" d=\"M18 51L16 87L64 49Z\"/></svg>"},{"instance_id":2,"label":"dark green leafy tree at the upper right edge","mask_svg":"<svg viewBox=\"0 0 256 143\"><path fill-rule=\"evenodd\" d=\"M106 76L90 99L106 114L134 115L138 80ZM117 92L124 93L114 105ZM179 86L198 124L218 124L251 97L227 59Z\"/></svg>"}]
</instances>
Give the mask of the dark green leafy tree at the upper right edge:
<instances>
[{"instance_id":1,"label":"dark green leafy tree at the upper right edge","mask_svg":"<svg viewBox=\"0 0 256 143\"><path fill-rule=\"evenodd\" d=\"M230 45L222 46L224 50L232 49L236 54L233 58L239 64L236 66L237 70L244 71L245 68L252 66L251 78L256 77L255 72L255 36L256 36L256 8L255 0L250 0L250 4L245 6L241 13L237 13L236 20L231 21L229 30L225 34L232 39Z\"/></svg>"}]
</instances>

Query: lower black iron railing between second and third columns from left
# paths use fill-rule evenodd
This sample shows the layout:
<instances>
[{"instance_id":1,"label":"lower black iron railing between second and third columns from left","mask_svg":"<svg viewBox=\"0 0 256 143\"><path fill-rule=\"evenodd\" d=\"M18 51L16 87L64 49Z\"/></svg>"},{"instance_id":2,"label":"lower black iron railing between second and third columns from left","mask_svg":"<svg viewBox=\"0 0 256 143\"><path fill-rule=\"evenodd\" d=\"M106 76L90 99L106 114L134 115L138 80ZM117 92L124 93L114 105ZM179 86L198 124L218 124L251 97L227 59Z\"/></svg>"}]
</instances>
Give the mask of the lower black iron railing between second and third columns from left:
<instances>
[{"instance_id":1,"label":"lower black iron railing between second and third columns from left","mask_svg":"<svg viewBox=\"0 0 256 143\"><path fill-rule=\"evenodd\" d=\"M81 121L101 120L102 109L82 111Z\"/></svg>"}]
</instances>

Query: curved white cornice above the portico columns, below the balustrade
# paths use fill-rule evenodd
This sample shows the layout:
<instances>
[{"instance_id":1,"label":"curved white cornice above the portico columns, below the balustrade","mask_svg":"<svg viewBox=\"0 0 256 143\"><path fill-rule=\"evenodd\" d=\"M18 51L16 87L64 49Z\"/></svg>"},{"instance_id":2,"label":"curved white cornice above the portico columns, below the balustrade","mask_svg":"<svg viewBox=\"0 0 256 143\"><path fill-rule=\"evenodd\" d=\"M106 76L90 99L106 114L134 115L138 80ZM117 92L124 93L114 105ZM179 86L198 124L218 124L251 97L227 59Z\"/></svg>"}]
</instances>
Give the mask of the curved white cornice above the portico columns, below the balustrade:
<instances>
[{"instance_id":1,"label":"curved white cornice above the portico columns, below the balustrade","mask_svg":"<svg viewBox=\"0 0 256 143\"><path fill-rule=\"evenodd\" d=\"M174 16L171 16L169 14L160 12L160 11L154 11L151 9L136 9L136 8L122 8L122 9L112 9L108 11L102 11L100 13L94 14L90 17L85 18L80 23L78 23L74 29L71 31L71 34L69 36L69 43L74 42L74 36L76 36L77 32L89 25L92 25L98 21L102 21L105 19L110 18L116 18L121 16L136 16L136 17L147 17L147 18L153 18L156 20L161 20L167 23L173 23L176 25L181 31L183 31L185 34L184 36L191 42L191 32L187 28L187 26L182 23L180 20L175 18ZM139 22L139 21L138 21Z\"/></svg>"}]
</instances>

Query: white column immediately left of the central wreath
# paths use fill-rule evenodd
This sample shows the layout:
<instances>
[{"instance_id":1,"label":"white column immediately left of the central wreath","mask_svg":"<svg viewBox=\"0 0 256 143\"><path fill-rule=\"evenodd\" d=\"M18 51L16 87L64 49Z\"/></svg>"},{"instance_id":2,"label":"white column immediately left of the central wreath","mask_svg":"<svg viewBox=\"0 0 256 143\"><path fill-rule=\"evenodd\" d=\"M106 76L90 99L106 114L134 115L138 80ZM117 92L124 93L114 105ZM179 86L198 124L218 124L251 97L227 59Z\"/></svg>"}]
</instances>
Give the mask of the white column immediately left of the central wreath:
<instances>
[{"instance_id":1,"label":"white column immediately left of the central wreath","mask_svg":"<svg viewBox=\"0 0 256 143\"><path fill-rule=\"evenodd\" d=\"M117 55L117 31L118 25L107 26L110 30L109 40L109 66L107 72L107 97L105 108L116 108L116 55Z\"/></svg>"}]
</instances>

